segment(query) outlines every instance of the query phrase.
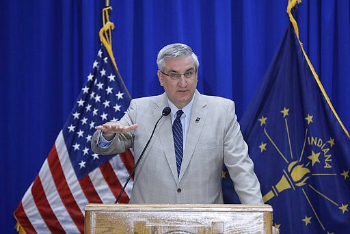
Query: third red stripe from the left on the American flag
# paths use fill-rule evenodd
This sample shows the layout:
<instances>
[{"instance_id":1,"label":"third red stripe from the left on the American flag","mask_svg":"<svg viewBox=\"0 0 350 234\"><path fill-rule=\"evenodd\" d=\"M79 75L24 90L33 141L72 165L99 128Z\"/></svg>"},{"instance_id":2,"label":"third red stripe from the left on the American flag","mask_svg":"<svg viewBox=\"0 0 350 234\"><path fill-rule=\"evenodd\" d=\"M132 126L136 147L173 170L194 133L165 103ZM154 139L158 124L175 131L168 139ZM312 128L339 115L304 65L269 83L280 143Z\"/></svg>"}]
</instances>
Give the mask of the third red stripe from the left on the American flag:
<instances>
[{"instance_id":1,"label":"third red stripe from the left on the American flag","mask_svg":"<svg viewBox=\"0 0 350 234\"><path fill-rule=\"evenodd\" d=\"M81 209L75 202L75 198L72 196L72 193L70 192L70 188L66 181L66 177L64 177L64 172L59 162L55 145L52 147L49 153L49 157L47 157L47 162L49 164L49 168L51 170L51 174L53 177L53 181L55 182L57 192L61 197L64 207L66 207L66 210L68 211L73 222L75 222L75 224L77 225L79 231L83 233L84 216L83 216L83 213L81 213Z\"/></svg>"}]
</instances>

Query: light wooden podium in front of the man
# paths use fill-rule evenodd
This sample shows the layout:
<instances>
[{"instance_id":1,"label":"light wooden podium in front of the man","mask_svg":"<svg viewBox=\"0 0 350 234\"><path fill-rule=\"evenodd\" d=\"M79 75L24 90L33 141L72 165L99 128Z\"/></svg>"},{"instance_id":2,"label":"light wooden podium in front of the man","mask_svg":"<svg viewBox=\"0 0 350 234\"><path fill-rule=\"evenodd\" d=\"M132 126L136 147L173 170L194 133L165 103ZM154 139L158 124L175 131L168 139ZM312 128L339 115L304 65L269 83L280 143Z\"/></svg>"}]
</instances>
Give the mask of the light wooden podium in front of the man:
<instances>
[{"instance_id":1,"label":"light wooden podium in front of the man","mask_svg":"<svg viewBox=\"0 0 350 234\"><path fill-rule=\"evenodd\" d=\"M270 205L89 204L85 233L272 233Z\"/></svg>"}]
</instances>

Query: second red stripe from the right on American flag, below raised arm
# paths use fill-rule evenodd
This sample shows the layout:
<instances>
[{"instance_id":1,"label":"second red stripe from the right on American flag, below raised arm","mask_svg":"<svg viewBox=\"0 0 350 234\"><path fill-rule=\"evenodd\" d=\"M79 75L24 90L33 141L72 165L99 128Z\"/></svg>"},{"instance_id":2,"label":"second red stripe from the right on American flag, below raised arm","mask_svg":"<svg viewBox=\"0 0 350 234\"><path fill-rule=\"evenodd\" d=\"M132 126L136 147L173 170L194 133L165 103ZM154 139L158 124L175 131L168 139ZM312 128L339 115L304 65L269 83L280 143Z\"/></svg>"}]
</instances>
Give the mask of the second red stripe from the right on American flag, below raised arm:
<instances>
[{"instance_id":1,"label":"second red stripe from the right on American flag, below raised arm","mask_svg":"<svg viewBox=\"0 0 350 234\"><path fill-rule=\"evenodd\" d=\"M111 189L111 192L116 198L118 198L120 191L122 191L122 185L120 184L116 173L114 173L111 164L109 162L103 164L100 166L100 171L103 174L103 177L105 178L105 181L107 182L109 188ZM119 201L120 203L129 203L129 196L124 192Z\"/></svg>"}]
</instances>

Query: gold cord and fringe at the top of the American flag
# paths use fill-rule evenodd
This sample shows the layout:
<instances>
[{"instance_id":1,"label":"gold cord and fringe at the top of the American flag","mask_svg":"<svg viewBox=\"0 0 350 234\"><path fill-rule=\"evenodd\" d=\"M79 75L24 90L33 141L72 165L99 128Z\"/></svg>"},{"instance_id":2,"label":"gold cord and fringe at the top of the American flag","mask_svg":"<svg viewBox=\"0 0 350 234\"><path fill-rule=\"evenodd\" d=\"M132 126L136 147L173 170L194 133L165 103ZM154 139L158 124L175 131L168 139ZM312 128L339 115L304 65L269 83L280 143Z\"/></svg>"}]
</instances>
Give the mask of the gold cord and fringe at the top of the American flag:
<instances>
[{"instance_id":1,"label":"gold cord and fringe at the top of the American flag","mask_svg":"<svg viewBox=\"0 0 350 234\"><path fill-rule=\"evenodd\" d=\"M102 10L102 20L103 20L103 27L100 29L100 42L103 43L105 46L109 57L111 57L111 60L113 62L114 67L116 68L118 78L120 79L120 82L122 83L122 86L124 87L126 94L129 96L129 99L131 99L131 95L129 93L129 90L126 88L126 85L122 79L122 76L119 73L119 69L116 63L116 59L114 58L113 51L112 51L112 34L111 30L114 29L114 24L109 21L109 12L112 10L111 6L109 5L110 1L105 0L106 7Z\"/></svg>"}]
</instances>

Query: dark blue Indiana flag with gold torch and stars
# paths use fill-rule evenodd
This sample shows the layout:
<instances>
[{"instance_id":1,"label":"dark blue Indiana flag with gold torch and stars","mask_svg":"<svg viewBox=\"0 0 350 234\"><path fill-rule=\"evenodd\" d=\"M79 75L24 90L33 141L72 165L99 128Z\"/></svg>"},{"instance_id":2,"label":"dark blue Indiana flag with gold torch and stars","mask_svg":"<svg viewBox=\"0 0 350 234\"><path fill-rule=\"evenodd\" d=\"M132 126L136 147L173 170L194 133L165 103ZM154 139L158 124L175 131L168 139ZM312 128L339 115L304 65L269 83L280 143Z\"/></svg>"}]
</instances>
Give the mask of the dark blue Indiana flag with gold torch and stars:
<instances>
[{"instance_id":1,"label":"dark blue Indiana flag with gold torch and stars","mask_svg":"<svg viewBox=\"0 0 350 234\"><path fill-rule=\"evenodd\" d=\"M295 21L241 129L281 233L350 233L349 133L301 46ZM225 202L234 202L226 180Z\"/></svg>"}]
</instances>

